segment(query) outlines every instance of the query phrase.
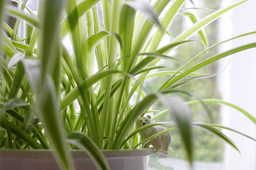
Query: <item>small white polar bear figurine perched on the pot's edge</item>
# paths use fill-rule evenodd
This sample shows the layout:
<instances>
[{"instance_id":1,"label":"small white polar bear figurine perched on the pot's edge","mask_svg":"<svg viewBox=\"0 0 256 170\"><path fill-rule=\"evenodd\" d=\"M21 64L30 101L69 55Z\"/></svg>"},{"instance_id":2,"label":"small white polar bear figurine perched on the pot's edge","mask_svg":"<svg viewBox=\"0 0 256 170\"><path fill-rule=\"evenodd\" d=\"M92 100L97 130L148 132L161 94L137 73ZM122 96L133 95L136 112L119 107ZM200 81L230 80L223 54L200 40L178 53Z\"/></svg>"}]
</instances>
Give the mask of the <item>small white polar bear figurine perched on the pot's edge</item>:
<instances>
[{"instance_id":1,"label":"small white polar bear figurine perched on the pot's edge","mask_svg":"<svg viewBox=\"0 0 256 170\"><path fill-rule=\"evenodd\" d=\"M152 123L150 121L151 117L147 116L147 117L142 117L139 118L136 121L136 128L140 128L141 126L144 126L146 124L150 124ZM140 131L140 138L141 140L144 140L160 131L164 131L166 130L166 128L162 127L162 126L152 126L149 127L143 131ZM156 138L154 138L153 140L151 140L151 142L149 144L153 145L153 147L155 148L155 154L159 154L159 158L165 158L168 155L168 149L169 146L171 144L171 140L172 140L172 135L170 132L166 132L160 136L157 136ZM149 145L148 145L149 147Z\"/></svg>"}]
</instances>

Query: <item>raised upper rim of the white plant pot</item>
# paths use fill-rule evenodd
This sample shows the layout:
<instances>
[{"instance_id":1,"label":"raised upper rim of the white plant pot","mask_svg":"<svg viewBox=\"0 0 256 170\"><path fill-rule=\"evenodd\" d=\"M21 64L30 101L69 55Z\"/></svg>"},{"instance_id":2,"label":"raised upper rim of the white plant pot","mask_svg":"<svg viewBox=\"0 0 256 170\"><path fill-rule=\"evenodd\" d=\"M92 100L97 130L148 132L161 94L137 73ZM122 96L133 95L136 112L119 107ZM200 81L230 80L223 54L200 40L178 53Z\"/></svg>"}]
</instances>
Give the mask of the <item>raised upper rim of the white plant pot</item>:
<instances>
[{"instance_id":1,"label":"raised upper rim of the white plant pot","mask_svg":"<svg viewBox=\"0 0 256 170\"><path fill-rule=\"evenodd\" d=\"M120 150L101 150L106 158L120 158L120 157L136 157L149 156L154 154L154 148L141 149L120 149ZM74 159L90 159L89 155L82 150L70 150ZM35 149L0 149L1 158L19 158L19 159L53 159L52 150Z\"/></svg>"}]
</instances>

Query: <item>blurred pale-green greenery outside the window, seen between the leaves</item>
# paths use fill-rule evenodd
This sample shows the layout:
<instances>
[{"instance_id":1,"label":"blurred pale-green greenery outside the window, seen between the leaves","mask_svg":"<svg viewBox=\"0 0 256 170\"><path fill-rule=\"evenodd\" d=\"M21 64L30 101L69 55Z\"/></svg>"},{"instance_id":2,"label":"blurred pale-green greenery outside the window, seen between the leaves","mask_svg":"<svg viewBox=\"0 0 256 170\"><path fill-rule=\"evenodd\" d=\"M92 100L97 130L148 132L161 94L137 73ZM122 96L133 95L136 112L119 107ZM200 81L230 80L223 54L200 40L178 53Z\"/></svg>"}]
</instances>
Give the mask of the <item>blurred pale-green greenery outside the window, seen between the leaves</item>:
<instances>
[{"instance_id":1,"label":"blurred pale-green greenery outside the window, seen between the leaves","mask_svg":"<svg viewBox=\"0 0 256 170\"><path fill-rule=\"evenodd\" d=\"M219 6L220 1L221 0L193 0L197 8L205 8L205 9L212 9L212 10L220 9L220 6ZM37 0L29 0L27 5L33 11L36 11ZM190 8L190 7L193 7L193 5L187 2L183 8ZM98 10L100 11L100 8ZM190 12L196 14L198 19L204 18L204 16L212 13L212 11L193 10L193 9L190 10ZM24 25L24 23L22 24ZM192 22L187 17L178 15L174 19L170 27L168 28L168 32L170 32L172 37L176 37L182 31L184 31L189 25L192 25ZM208 38L209 46L216 44L218 42L217 36L216 36L218 34L218 20L206 26L205 33ZM25 36L21 35L21 37L25 37ZM197 42L180 46L179 48L176 49L175 53L171 53L168 55L183 61L190 60L193 56L200 53L204 49L204 46L200 44L201 40L198 34L194 35L191 39ZM166 42L163 42L163 43L166 45L171 41L171 38L166 35L165 41ZM67 49L70 49L68 48L69 41L67 39L64 40L64 46L66 46ZM71 53L71 51L69 52ZM217 49L213 48L212 50L209 51L208 54L202 55L194 62L198 63L200 61L203 61L207 57L212 56L216 53L217 53ZM177 70L177 68L181 67L181 64L182 63L174 62L172 60L164 60L164 62L162 61L158 63L158 65L160 66L167 67L167 68L159 69L160 71ZM194 63L192 62L191 64L193 65ZM208 74L216 73L217 63L215 62L208 67L203 67L197 70L197 72L208 73ZM149 74L152 74L152 73L154 73L154 71L151 71ZM163 75L163 76L158 76L156 78L148 79L145 81L145 84L144 84L145 87L143 90L145 91L146 94L153 93L161 86L161 84L167 78L168 78L168 75ZM217 90L217 86L215 82L216 82L216 77L195 80L190 83L181 85L179 89L193 92L194 94L196 94L202 99L207 99L207 98L220 99L220 94ZM186 95L180 95L180 96L185 101L189 101L190 99L189 98L190 96L186 96ZM192 100L195 100L195 98L192 98ZM220 123L220 112L219 112L220 107L218 105L210 105L210 104L207 104L207 106L212 111L212 115L214 116L214 123L219 124ZM207 116L207 113L201 104L190 105L190 108L193 113L193 121L210 123L209 117ZM153 105L151 109L165 110L166 108L161 104L161 102L158 101ZM155 115L156 113L157 112L154 112L152 114ZM167 120L174 121L170 114L165 114L165 116L161 116L157 118L154 122L164 122ZM178 135L178 131L172 131L171 133L172 133L172 143L170 147L172 148L173 153L171 150L169 150L169 155L165 159L159 159L158 155L150 156L149 165L148 165L149 170L151 169L159 169L159 170L175 169L176 170L176 168L165 166L165 165L168 165L168 164L171 165L172 163L179 164L179 163L185 162L183 160L186 159L186 154L185 154L184 148L182 147L181 140ZM195 161L216 162L217 164L223 161L224 144L218 138L200 129L193 129L193 134L195 139L194 140Z\"/></svg>"}]
</instances>

